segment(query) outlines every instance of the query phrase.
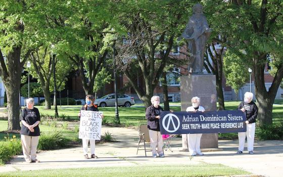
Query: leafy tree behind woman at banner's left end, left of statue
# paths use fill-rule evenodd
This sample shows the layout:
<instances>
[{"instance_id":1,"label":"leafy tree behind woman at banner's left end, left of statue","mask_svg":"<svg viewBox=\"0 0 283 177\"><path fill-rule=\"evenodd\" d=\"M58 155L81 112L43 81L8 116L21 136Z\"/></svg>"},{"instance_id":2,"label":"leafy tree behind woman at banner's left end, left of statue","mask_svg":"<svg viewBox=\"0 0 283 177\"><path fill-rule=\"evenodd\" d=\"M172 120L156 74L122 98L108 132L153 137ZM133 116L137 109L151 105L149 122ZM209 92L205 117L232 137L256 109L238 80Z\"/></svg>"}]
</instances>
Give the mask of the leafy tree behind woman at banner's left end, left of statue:
<instances>
[{"instance_id":1,"label":"leafy tree behind woman at banner's left end, left of statue","mask_svg":"<svg viewBox=\"0 0 283 177\"><path fill-rule=\"evenodd\" d=\"M154 89L174 45L176 33L184 28L187 12L194 2L187 1L120 1L119 22L126 34L118 41L118 62L139 99L151 105ZM179 25L181 24L181 25ZM137 86L137 71L141 85Z\"/></svg>"}]
</instances>

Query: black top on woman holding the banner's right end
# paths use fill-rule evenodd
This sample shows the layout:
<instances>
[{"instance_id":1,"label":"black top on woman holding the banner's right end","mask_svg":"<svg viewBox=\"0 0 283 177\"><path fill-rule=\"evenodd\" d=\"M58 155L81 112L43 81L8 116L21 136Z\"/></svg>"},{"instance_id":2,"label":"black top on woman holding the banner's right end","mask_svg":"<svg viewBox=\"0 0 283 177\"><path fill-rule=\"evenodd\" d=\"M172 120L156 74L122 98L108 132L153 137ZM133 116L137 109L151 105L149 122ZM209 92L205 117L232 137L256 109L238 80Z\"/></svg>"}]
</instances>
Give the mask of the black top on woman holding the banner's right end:
<instances>
[{"instance_id":1,"label":"black top on woman holding the banner's right end","mask_svg":"<svg viewBox=\"0 0 283 177\"><path fill-rule=\"evenodd\" d=\"M251 101L251 103L246 103L242 101L240 105L238 106L238 110L241 110L242 108L245 108L245 113L247 120L249 123L255 123L256 122L256 117L258 113L258 108L255 102Z\"/></svg>"}]
</instances>

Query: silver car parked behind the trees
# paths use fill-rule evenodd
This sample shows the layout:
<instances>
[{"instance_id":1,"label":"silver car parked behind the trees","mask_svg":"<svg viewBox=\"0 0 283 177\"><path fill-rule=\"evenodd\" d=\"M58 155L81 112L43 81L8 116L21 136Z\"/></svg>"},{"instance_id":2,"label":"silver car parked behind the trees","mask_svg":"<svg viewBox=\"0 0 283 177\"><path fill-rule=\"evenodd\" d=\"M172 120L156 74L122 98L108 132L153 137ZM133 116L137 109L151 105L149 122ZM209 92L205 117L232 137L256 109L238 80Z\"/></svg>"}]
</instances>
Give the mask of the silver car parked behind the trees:
<instances>
[{"instance_id":1,"label":"silver car parked behind the trees","mask_svg":"<svg viewBox=\"0 0 283 177\"><path fill-rule=\"evenodd\" d=\"M117 96L118 106L130 107L131 105L134 105L133 97L124 94L117 94ZM99 99L96 99L95 105L98 105L100 107L115 106L115 94L108 94Z\"/></svg>"}]
</instances>

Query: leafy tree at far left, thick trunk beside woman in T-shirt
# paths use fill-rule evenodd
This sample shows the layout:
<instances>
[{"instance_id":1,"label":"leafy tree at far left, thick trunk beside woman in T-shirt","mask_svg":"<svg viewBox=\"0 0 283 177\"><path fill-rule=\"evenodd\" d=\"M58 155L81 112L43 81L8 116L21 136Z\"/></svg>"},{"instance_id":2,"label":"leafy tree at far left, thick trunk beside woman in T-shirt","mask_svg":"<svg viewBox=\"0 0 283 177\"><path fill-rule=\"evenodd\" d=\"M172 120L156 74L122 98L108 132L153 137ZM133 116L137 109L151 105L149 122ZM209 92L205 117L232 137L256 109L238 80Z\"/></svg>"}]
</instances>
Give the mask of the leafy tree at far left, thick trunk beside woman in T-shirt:
<instances>
[{"instance_id":1,"label":"leafy tree at far left, thick trunk beside woman in T-shirt","mask_svg":"<svg viewBox=\"0 0 283 177\"><path fill-rule=\"evenodd\" d=\"M0 1L0 76L8 100L8 130L20 129L21 71L40 35L41 15L35 1Z\"/></svg>"}]
</instances>

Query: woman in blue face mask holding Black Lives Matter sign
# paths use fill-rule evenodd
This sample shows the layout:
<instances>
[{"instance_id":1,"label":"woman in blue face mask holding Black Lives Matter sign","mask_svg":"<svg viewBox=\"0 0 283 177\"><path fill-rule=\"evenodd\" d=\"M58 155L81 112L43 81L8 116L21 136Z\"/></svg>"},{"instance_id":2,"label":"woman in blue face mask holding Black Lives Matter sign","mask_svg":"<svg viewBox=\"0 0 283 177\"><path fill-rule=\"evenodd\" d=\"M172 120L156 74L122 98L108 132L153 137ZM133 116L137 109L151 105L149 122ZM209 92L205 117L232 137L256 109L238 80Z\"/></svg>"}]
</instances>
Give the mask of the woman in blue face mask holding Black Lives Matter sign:
<instances>
[{"instance_id":1,"label":"woman in blue face mask holding Black Lives Matter sign","mask_svg":"<svg viewBox=\"0 0 283 177\"><path fill-rule=\"evenodd\" d=\"M85 105L81 108L81 110L84 111L99 111L98 106L93 104L95 101L95 97L92 95L87 95L85 97ZM78 115L80 117L80 113ZM98 158L98 156L95 155L95 149L96 149L96 140L89 140L89 139L82 139L82 148L83 148L83 154L84 158L88 159L87 151L88 151L88 142L90 143L90 153L91 158Z\"/></svg>"}]
</instances>

